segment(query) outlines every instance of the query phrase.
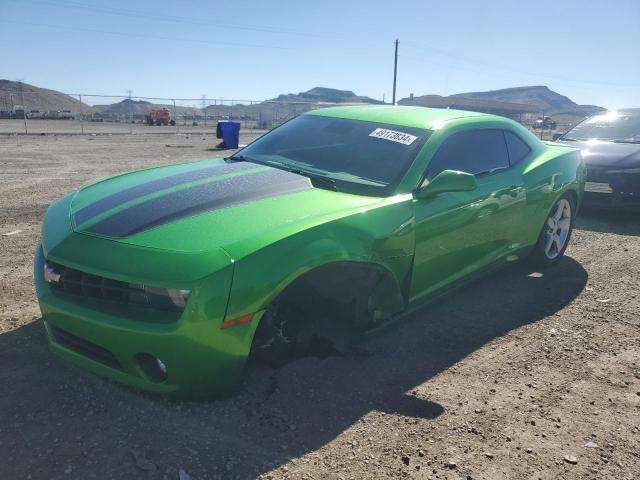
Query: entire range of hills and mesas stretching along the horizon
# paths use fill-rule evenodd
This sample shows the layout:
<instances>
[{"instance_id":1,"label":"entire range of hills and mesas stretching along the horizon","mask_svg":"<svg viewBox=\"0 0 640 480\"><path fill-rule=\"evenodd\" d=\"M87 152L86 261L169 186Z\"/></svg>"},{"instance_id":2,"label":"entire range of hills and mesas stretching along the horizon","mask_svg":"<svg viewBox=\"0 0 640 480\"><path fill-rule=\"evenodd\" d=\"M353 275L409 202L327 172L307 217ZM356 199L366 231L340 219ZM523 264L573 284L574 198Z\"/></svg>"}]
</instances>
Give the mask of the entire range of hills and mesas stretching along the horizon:
<instances>
[{"instance_id":1,"label":"entire range of hills and mesas stretching along the horizon","mask_svg":"<svg viewBox=\"0 0 640 480\"><path fill-rule=\"evenodd\" d=\"M64 93L46 88L39 88L26 83L0 80L0 110L11 110L14 106L24 104L27 110L71 110L74 115L82 111L85 114L98 113L106 117L126 117L132 114L144 116L152 109L166 107L173 115L173 105L155 104L144 100L125 99L109 105L90 106L80 104L79 100ZM196 107L176 106L178 116L197 117L202 114L218 118L235 117L256 120L259 124L277 123L311 108L332 103L371 103L383 102L361 95L351 90L314 87L297 94L287 93L265 102L250 105L209 105L204 111ZM404 98L401 105L425 105L439 108L461 108L467 110L491 111L498 114L521 115L531 113L538 115L545 112L554 117L567 117L575 120L586 115L604 110L595 105L578 105L570 98L561 95L543 85L504 88L486 92L467 92L440 97L423 95L421 97ZM514 117L515 118L515 117Z\"/></svg>"}]
</instances>

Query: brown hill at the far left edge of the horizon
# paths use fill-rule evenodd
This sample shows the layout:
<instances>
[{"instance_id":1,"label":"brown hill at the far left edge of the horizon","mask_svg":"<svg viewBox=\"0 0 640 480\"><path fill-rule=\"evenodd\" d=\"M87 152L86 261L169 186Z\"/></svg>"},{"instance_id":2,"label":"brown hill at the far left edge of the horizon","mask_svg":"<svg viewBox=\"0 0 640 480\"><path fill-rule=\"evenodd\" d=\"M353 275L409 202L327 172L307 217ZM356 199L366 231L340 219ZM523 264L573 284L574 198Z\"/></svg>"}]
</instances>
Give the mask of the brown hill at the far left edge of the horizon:
<instances>
[{"instance_id":1,"label":"brown hill at the far left edge of the horizon","mask_svg":"<svg viewBox=\"0 0 640 480\"><path fill-rule=\"evenodd\" d=\"M26 110L71 110L80 112L80 101L64 93L47 88L40 88L28 83L0 80L0 110L12 110L14 106L23 105ZM84 113L93 113L93 108L82 103Z\"/></svg>"}]
</instances>

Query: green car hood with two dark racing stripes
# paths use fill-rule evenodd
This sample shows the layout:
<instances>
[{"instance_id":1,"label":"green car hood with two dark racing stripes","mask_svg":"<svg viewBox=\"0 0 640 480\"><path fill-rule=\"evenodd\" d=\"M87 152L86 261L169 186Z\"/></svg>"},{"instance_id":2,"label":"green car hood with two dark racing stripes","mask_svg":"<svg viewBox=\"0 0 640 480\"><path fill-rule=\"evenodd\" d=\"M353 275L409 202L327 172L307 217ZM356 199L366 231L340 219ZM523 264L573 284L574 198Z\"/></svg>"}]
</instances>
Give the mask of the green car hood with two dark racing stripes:
<instances>
[{"instance_id":1,"label":"green car hood with two dark racing stripes","mask_svg":"<svg viewBox=\"0 0 640 480\"><path fill-rule=\"evenodd\" d=\"M222 159L141 170L79 190L76 233L232 259L381 199L316 188L304 176Z\"/></svg>"}]
</instances>

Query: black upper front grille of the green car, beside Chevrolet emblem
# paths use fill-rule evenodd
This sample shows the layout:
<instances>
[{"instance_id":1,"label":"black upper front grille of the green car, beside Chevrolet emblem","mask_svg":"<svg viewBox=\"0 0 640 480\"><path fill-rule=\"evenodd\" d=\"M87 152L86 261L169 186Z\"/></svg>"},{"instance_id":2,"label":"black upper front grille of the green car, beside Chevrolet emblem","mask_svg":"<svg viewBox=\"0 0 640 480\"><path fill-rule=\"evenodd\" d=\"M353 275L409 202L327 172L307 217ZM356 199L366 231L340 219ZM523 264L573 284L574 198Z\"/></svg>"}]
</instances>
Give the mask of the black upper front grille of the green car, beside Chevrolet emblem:
<instances>
[{"instance_id":1,"label":"black upper front grille of the green car, beside Chevrolet emblem","mask_svg":"<svg viewBox=\"0 0 640 480\"><path fill-rule=\"evenodd\" d=\"M129 305L155 310L154 323L177 320L183 308L176 306L166 295L154 294L142 285L113 280L47 261L46 267L59 278L49 281L54 293L72 295L79 300L102 300L113 305Z\"/></svg>"}]
</instances>

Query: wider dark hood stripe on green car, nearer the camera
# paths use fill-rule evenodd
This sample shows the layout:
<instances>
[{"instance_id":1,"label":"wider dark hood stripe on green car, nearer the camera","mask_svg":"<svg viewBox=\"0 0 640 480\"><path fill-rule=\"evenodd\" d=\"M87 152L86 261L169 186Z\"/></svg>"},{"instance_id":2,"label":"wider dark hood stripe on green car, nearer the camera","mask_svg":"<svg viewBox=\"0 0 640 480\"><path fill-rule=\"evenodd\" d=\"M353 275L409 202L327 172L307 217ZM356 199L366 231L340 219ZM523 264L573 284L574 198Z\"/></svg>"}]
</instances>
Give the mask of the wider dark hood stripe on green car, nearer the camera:
<instances>
[{"instance_id":1,"label":"wider dark hood stripe on green car, nearer the camera","mask_svg":"<svg viewBox=\"0 0 640 480\"><path fill-rule=\"evenodd\" d=\"M180 218L310 188L308 178L283 170L241 175L139 203L101 220L87 231L127 237Z\"/></svg>"}]
</instances>

